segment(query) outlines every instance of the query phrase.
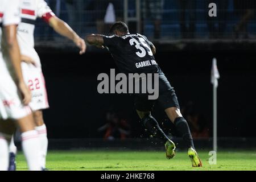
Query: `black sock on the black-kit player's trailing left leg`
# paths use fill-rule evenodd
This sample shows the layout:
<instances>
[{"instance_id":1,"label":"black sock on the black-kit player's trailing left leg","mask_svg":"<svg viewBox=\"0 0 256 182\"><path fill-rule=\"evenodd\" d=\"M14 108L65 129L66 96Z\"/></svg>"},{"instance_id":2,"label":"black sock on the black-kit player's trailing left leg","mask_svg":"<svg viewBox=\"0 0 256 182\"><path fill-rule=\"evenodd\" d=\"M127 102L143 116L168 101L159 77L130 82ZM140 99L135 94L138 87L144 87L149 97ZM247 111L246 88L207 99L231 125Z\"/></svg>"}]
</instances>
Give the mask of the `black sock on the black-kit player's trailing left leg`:
<instances>
[{"instance_id":1,"label":"black sock on the black-kit player's trailing left leg","mask_svg":"<svg viewBox=\"0 0 256 182\"><path fill-rule=\"evenodd\" d=\"M143 123L144 127L146 127L146 129L148 131L150 131L150 133L153 135L153 137L156 136L156 137L160 138L163 142L170 140L167 137L167 135L163 132L163 130L160 128L156 119L153 118L151 114L144 117L142 119L142 123Z\"/></svg>"}]
</instances>

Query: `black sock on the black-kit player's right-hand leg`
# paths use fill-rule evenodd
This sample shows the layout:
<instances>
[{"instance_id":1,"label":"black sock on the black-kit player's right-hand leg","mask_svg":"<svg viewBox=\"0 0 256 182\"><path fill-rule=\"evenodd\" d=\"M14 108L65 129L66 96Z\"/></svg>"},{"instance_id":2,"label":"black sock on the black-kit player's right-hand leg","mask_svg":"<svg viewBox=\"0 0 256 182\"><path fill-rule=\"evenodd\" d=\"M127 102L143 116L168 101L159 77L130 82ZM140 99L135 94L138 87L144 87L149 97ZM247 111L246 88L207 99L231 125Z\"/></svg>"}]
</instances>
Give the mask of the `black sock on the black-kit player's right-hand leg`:
<instances>
[{"instance_id":1,"label":"black sock on the black-kit player's right-hand leg","mask_svg":"<svg viewBox=\"0 0 256 182\"><path fill-rule=\"evenodd\" d=\"M195 149L187 121L184 118L176 118L174 125L187 147L192 147Z\"/></svg>"}]
</instances>

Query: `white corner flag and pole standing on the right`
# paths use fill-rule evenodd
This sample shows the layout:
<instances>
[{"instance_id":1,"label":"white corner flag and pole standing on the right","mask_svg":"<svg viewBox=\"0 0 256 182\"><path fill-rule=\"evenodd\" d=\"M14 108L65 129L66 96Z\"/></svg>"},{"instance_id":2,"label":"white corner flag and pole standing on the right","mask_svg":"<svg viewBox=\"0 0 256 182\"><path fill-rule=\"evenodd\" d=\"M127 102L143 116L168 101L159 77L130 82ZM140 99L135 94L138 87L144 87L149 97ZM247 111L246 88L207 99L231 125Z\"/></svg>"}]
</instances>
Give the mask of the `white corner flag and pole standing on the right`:
<instances>
[{"instance_id":1,"label":"white corner flag and pole standing on the right","mask_svg":"<svg viewBox=\"0 0 256 182\"><path fill-rule=\"evenodd\" d=\"M218 88L218 78L220 74L218 73L217 60L213 58L212 60L212 73L211 82L213 84L213 151L217 152L217 88Z\"/></svg>"}]
</instances>

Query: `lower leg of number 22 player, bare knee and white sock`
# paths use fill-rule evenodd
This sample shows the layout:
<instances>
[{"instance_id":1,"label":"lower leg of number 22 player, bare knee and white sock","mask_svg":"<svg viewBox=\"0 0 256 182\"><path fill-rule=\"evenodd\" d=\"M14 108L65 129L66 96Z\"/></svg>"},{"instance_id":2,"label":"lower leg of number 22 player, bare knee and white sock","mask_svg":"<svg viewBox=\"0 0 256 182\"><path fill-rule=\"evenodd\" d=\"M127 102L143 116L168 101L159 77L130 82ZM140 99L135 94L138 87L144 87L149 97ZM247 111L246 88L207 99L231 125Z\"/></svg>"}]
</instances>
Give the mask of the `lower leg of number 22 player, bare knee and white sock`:
<instances>
[{"instance_id":1,"label":"lower leg of number 22 player, bare knee and white sock","mask_svg":"<svg viewBox=\"0 0 256 182\"><path fill-rule=\"evenodd\" d=\"M44 124L43 112L42 110L37 110L33 112L33 117L35 121L35 130L38 132L38 137L40 140L40 151L41 151L41 165L43 170L46 169L46 155L48 148L48 138L47 138L47 129Z\"/></svg>"}]
</instances>

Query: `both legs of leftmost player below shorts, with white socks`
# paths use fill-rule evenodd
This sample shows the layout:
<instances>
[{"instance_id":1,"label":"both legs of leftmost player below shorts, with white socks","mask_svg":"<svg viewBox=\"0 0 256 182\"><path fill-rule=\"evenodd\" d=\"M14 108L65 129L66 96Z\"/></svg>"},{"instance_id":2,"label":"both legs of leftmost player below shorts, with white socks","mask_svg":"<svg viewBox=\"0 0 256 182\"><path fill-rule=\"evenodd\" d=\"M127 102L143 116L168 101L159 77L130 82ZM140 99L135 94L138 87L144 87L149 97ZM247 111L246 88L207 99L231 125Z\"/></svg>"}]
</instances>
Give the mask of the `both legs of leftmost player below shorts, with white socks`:
<instances>
[{"instance_id":1,"label":"both legs of leftmost player below shorts, with white socks","mask_svg":"<svg viewBox=\"0 0 256 182\"><path fill-rule=\"evenodd\" d=\"M19 127L22 137L22 149L27 159L28 168L31 171L40 171L40 151L38 134L35 131L35 123L32 114L24 118L17 119L15 122L0 121L0 148L1 148L1 162L0 168L7 170L9 166L9 142L11 136L15 132L15 124ZM7 164L6 164L7 162Z\"/></svg>"}]
</instances>

